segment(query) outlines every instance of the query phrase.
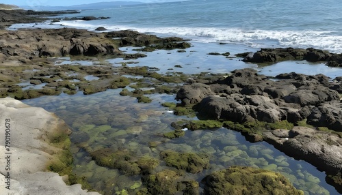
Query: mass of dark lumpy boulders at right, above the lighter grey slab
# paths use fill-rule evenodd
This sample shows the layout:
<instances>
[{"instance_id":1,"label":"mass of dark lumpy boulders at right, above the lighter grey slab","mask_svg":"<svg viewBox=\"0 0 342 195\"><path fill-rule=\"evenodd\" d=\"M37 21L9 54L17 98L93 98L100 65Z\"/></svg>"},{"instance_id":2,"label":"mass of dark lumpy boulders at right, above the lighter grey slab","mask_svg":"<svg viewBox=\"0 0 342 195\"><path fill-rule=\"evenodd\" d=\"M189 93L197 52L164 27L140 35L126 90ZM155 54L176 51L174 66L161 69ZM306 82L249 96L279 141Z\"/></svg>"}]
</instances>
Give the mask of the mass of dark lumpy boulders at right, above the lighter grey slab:
<instances>
[{"instance_id":1,"label":"mass of dark lumpy boulders at right, above the lighter grey slab","mask_svg":"<svg viewBox=\"0 0 342 195\"><path fill-rule=\"evenodd\" d=\"M330 81L318 74L280 74L280 80L267 79L256 70L235 70L231 76L210 85L184 85L176 95L183 105L196 104L202 119L225 119L234 122L308 119L313 125L341 131L339 92L341 81ZM329 106L326 102L336 101ZM333 109L334 108L334 109Z\"/></svg>"}]
</instances>

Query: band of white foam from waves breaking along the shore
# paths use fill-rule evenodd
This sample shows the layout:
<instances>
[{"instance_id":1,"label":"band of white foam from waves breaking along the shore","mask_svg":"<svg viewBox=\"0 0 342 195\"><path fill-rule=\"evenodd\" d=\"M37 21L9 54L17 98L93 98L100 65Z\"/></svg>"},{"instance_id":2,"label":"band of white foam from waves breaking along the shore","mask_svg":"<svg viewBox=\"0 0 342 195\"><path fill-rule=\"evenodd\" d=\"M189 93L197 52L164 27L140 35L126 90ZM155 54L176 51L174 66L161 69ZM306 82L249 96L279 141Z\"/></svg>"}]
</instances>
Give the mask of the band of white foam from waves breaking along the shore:
<instances>
[{"instance_id":1,"label":"band of white foam from waves breaking along the shore","mask_svg":"<svg viewBox=\"0 0 342 195\"><path fill-rule=\"evenodd\" d=\"M100 23L98 23L100 22ZM102 24L101 24L102 23ZM107 31L131 29L141 33L153 33L159 36L181 36L195 42L226 42L248 44L255 48L294 47L319 48L330 52L342 52L342 35L335 31L271 31L246 30L238 28L215 27L131 27L129 25L108 25L105 21L96 20L96 24L83 20L61 21L58 23L16 24L10 29L18 28L62 28L74 27L94 31L97 27L105 27Z\"/></svg>"}]
</instances>

